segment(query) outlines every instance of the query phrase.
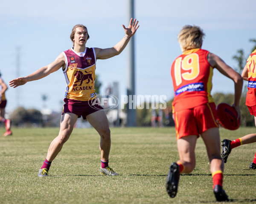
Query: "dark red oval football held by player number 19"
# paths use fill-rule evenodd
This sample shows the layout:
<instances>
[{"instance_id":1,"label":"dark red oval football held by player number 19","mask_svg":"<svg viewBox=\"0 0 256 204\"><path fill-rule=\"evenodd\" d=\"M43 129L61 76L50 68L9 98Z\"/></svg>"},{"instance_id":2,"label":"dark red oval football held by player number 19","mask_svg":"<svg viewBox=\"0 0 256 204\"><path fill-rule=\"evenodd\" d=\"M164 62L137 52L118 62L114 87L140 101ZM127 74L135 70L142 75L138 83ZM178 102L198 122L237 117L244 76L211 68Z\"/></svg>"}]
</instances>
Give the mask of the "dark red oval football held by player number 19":
<instances>
[{"instance_id":1,"label":"dark red oval football held by player number 19","mask_svg":"<svg viewBox=\"0 0 256 204\"><path fill-rule=\"evenodd\" d=\"M236 130L240 126L240 119L237 119L236 109L227 103L220 103L217 108L219 124L228 129Z\"/></svg>"}]
</instances>

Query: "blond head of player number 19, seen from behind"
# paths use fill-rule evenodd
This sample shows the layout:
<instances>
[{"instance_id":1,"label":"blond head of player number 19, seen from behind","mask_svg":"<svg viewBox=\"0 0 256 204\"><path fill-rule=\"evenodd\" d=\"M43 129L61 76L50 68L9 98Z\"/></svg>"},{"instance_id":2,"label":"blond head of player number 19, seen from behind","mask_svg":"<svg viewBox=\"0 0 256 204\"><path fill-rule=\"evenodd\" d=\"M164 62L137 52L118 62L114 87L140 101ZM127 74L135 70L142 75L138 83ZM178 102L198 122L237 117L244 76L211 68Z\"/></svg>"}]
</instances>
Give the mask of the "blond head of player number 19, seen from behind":
<instances>
[{"instance_id":1,"label":"blond head of player number 19, seen from behind","mask_svg":"<svg viewBox=\"0 0 256 204\"><path fill-rule=\"evenodd\" d=\"M204 35L199 26L184 26L178 34L181 51L201 48Z\"/></svg>"}]
</instances>

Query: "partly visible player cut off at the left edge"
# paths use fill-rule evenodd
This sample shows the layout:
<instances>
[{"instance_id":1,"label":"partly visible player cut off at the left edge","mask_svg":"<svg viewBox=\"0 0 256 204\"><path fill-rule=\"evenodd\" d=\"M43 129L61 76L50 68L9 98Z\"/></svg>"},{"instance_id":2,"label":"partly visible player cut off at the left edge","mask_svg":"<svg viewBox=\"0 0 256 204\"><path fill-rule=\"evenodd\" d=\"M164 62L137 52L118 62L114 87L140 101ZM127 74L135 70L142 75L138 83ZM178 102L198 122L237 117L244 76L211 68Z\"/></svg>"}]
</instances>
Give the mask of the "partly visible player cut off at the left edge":
<instances>
[{"instance_id":1,"label":"partly visible player cut off at the left edge","mask_svg":"<svg viewBox=\"0 0 256 204\"><path fill-rule=\"evenodd\" d=\"M3 137L12 135L12 130L11 130L11 121L10 119L5 118L5 108L6 108L6 96L5 92L8 89L7 85L5 82L3 82L3 79L1 78L0 74L0 121L4 123L6 132L3 133Z\"/></svg>"}]
</instances>

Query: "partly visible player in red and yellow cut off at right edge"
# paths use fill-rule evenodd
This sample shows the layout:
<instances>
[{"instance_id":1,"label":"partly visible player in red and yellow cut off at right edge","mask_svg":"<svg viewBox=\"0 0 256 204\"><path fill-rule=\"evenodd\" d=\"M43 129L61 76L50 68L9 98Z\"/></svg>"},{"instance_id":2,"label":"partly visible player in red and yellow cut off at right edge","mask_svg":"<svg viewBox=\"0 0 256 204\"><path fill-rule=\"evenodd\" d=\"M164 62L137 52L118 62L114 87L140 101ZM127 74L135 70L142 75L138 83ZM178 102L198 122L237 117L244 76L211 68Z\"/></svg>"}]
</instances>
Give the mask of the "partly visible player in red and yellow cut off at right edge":
<instances>
[{"instance_id":1,"label":"partly visible player in red and yellow cut off at right edge","mask_svg":"<svg viewBox=\"0 0 256 204\"><path fill-rule=\"evenodd\" d=\"M245 81L248 81L248 91L246 95L245 105L247 105L250 114L254 115L254 122L256 126L256 50L254 50L247 59L246 65L242 71L241 76ZM250 144L256 142L256 133L245 135L241 138L235 139L233 141L229 139L224 139L222 141L222 159L224 163L227 162L227 157L231 153L231 150L242 144ZM254 155L253 161L250 163L250 169L256 169L256 153Z\"/></svg>"}]
</instances>

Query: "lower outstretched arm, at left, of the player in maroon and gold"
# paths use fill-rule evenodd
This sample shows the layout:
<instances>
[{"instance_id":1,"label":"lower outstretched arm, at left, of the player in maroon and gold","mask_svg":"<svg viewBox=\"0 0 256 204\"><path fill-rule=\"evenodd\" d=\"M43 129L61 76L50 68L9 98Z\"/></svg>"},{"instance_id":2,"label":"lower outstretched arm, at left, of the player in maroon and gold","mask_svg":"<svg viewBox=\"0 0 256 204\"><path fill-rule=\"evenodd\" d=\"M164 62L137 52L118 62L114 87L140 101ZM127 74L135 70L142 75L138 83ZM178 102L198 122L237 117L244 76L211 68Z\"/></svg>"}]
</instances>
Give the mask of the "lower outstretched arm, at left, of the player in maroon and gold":
<instances>
[{"instance_id":1,"label":"lower outstretched arm, at left, of the player in maroon and gold","mask_svg":"<svg viewBox=\"0 0 256 204\"><path fill-rule=\"evenodd\" d=\"M37 71L35 71L32 74L29 74L26 77L19 77L17 79L13 79L12 81L9 82L9 85L13 88L16 88L17 86L20 85L24 85L26 84L26 82L30 82L30 81L35 81L38 79L42 79L46 76L48 76L49 74L51 74L52 72L57 71L59 68L61 68L62 66L65 65L65 57L64 55L61 53L59 54L59 56L49 65L42 67L40 69L38 69Z\"/></svg>"}]
</instances>

